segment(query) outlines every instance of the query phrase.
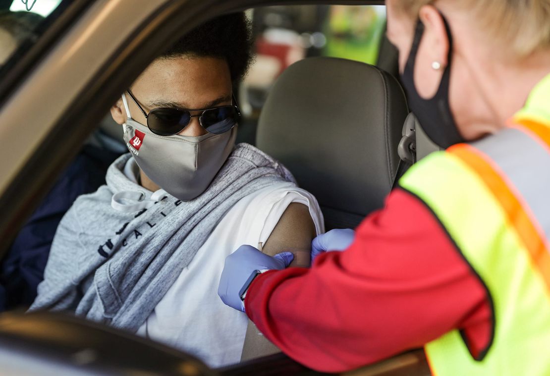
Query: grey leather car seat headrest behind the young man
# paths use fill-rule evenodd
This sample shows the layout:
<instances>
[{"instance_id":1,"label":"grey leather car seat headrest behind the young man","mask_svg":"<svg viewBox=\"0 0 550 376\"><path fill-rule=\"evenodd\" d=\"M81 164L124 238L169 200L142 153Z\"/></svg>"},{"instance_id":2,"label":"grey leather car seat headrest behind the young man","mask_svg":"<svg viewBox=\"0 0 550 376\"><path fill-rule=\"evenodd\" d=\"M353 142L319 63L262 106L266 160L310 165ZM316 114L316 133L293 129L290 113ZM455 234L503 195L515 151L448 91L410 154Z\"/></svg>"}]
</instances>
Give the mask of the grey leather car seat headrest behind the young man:
<instances>
[{"instance_id":1,"label":"grey leather car seat headrest behind the young man","mask_svg":"<svg viewBox=\"0 0 550 376\"><path fill-rule=\"evenodd\" d=\"M327 229L354 227L391 189L407 114L403 90L383 70L307 58L272 87L256 145L317 197Z\"/></svg>"}]
</instances>

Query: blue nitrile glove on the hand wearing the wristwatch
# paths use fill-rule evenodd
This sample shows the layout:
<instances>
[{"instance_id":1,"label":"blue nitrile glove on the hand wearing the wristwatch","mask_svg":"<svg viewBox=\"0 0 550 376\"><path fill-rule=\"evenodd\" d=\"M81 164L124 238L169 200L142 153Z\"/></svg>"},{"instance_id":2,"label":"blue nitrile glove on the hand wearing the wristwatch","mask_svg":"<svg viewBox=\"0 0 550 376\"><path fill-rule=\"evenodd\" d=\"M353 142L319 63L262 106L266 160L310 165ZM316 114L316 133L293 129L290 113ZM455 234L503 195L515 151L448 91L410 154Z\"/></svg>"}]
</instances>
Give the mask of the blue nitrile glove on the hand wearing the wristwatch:
<instances>
[{"instance_id":1,"label":"blue nitrile glove on the hand wearing the wristwatch","mask_svg":"<svg viewBox=\"0 0 550 376\"><path fill-rule=\"evenodd\" d=\"M240 246L226 258L222 277L219 279L218 295L229 307L244 312L244 301L241 300L239 292L254 270L282 270L288 267L293 259L294 255L290 252L278 253L271 257L252 246Z\"/></svg>"}]
</instances>

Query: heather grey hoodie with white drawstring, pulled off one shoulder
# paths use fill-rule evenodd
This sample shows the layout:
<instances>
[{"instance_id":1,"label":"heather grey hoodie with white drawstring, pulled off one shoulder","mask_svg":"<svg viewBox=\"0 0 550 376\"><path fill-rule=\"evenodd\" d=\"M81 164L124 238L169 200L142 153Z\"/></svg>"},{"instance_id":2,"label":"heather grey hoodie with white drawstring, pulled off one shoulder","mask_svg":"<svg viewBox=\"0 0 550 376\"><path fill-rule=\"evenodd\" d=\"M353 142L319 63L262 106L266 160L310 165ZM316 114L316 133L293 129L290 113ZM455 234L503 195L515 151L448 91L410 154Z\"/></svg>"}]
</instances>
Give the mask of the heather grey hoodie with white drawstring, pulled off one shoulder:
<instances>
[{"instance_id":1,"label":"heather grey hoodie with white drawstring, pulled off one shoulder","mask_svg":"<svg viewBox=\"0 0 550 376\"><path fill-rule=\"evenodd\" d=\"M188 202L165 195L148 209L113 209L113 195L152 193L125 176L130 154L107 171L107 185L80 196L54 237L44 281L29 311L68 310L136 331L241 198L294 178L277 161L239 144L208 189ZM155 196L153 196L155 198Z\"/></svg>"}]
</instances>

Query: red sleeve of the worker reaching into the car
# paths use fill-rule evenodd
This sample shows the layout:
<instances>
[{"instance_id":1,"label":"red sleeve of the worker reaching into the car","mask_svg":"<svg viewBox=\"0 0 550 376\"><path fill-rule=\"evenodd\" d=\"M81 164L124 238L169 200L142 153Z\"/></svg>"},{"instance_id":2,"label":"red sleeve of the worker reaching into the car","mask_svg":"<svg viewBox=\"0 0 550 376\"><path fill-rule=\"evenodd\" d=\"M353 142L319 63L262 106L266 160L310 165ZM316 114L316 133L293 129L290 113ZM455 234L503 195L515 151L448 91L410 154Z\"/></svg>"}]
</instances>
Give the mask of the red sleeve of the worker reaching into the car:
<instances>
[{"instance_id":1,"label":"red sleeve of the worker reaching into the car","mask_svg":"<svg viewBox=\"0 0 550 376\"><path fill-rule=\"evenodd\" d=\"M311 269L257 277L246 312L283 352L343 372L465 329L474 348L491 334L486 290L430 209L404 190L357 228L344 252Z\"/></svg>"}]
</instances>

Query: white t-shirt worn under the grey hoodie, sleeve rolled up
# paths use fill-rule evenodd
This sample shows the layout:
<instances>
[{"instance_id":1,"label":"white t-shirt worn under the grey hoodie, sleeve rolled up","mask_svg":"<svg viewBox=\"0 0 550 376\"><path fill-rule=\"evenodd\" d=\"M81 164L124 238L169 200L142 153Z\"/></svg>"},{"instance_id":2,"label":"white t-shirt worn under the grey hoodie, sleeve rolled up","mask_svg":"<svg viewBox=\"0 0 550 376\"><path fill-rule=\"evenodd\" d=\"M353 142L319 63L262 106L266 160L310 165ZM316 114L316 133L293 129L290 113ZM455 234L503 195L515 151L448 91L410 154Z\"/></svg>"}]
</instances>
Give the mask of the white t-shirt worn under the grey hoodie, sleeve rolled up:
<instances>
[{"instance_id":1,"label":"white t-shirt worn under the grey hoodie, sleeve rolled up","mask_svg":"<svg viewBox=\"0 0 550 376\"><path fill-rule=\"evenodd\" d=\"M242 198L216 226L138 334L191 353L210 367L238 363L248 318L224 305L218 296L225 259L241 245L265 243L292 202L309 207L317 234L324 232L315 197L292 183L275 184Z\"/></svg>"}]
</instances>

